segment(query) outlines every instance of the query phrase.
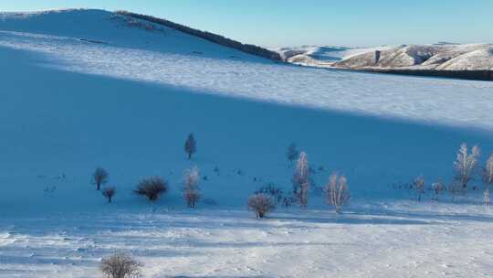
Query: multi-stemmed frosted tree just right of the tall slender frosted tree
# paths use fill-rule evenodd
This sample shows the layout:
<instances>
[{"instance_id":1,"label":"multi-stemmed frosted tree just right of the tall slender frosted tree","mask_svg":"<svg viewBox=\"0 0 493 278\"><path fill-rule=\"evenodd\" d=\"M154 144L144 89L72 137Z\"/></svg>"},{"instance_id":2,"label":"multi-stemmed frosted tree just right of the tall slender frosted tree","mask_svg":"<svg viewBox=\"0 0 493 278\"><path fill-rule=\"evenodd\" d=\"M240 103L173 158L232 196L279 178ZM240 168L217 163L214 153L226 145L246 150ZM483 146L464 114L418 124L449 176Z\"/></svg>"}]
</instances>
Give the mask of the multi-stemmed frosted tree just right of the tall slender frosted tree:
<instances>
[{"instance_id":1,"label":"multi-stemmed frosted tree just right of the tall slender frosted tree","mask_svg":"<svg viewBox=\"0 0 493 278\"><path fill-rule=\"evenodd\" d=\"M325 191L327 194L327 203L334 206L337 213L341 212L342 207L351 198L346 176L339 176L337 173L330 175Z\"/></svg>"}]
</instances>

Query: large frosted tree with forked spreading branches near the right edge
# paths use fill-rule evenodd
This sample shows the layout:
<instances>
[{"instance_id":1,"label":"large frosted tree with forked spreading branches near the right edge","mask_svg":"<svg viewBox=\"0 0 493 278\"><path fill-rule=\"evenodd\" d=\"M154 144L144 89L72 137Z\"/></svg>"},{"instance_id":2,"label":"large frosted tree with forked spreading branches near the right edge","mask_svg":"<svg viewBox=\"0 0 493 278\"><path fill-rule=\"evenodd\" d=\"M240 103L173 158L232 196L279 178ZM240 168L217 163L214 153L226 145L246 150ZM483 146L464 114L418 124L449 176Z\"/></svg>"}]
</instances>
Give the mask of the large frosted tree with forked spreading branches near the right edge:
<instances>
[{"instance_id":1,"label":"large frosted tree with forked spreading branches near the right edge","mask_svg":"<svg viewBox=\"0 0 493 278\"><path fill-rule=\"evenodd\" d=\"M457 158L454 162L456 170L456 180L460 182L462 187L467 188L467 183L474 177L474 171L477 166L477 159L480 151L477 145L473 146L471 153L467 149L467 144L461 144L457 152Z\"/></svg>"}]
</instances>

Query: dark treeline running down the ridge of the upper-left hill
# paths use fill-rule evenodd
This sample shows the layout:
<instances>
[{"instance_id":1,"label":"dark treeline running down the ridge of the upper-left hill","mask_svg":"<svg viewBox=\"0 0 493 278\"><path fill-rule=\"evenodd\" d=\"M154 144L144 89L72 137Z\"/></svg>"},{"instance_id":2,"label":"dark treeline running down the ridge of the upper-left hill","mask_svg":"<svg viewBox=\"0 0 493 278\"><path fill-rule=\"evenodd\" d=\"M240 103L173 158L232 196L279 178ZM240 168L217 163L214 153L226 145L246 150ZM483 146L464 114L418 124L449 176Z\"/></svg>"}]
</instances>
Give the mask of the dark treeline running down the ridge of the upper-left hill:
<instances>
[{"instance_id":1,"label":"dark treeline running down the ridge of the upper-left hill","mask_svg":"<svg viewBox=\"0 0 493 278\"><path fill-rule=\"evenodd\" d=\"M163 25L165 27L171 27L180 32L184 32L185 34L189 34L195 37L201 37L210 42L214 42L216 44L225 46L227 48L235 48L240 51L246 52L248 54L260 56L267 59L282 60L278 52L274 52L266 48L260 48L254 45L243 44L231 38L223 37L206 31L197 30L191 27L186 27L184 25L177 24L163 18L158 18L154 16L145 16L145 15L135 14L127 11L118 11L117 14L121 16L131 16L133 18L146 20L155 24Z\"/></svg>"}]
</instances>

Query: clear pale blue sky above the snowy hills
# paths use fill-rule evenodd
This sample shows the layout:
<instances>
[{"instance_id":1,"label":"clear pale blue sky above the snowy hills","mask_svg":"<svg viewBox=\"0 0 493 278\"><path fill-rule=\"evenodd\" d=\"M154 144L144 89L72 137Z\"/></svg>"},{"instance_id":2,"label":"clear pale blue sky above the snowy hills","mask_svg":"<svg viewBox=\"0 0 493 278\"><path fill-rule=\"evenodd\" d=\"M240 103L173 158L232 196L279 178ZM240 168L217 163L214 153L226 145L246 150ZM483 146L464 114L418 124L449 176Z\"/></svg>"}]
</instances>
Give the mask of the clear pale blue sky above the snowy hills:
<instances>
[{"instance_id":1,"label":"clear pale blue sky above the snowy hills","mask_svg":"<svg viewBox=\"0 0 493 278\"><path fill-rule=\"evenodd\" d=\"M92 7L160 16L262 46L493 42L491 0L1 0L2 11Z\"/></svg>"}]
</instances>

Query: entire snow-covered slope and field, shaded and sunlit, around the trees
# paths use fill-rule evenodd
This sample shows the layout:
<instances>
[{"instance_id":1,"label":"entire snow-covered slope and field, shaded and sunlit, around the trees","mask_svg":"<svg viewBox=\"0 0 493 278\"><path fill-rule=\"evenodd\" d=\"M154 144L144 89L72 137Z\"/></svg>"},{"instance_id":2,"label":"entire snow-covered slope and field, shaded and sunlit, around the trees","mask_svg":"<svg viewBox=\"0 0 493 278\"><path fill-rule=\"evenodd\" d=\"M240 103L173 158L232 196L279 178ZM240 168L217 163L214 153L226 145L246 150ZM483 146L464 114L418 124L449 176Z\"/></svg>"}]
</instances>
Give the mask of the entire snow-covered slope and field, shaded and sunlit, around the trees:
<instances>
[{"instance_id":1,"label":"entire snow-covered slope and field, shaded and sunlit, around the trees","mask_svg":"<svg viewBox=\"0 0 493 278\"><path fill-rule=\"evenodd\" d=\"M113 251L145 277L493 271L493 211L477 194L418 204L393 188L448 182L462 142L493 152L493 83L278 64L95 10L1 15L0 62L0 277L99 277ZM290 188L291 142L317 186L348 176L344 214L316 192L308 209L247 211L265 183ZM194 165L209 201L190 210L180 187ZM89 183L96 166L112 204ZM131 189L153 175L172 189L149 204Z\"/></svg>"}]
</instances>

